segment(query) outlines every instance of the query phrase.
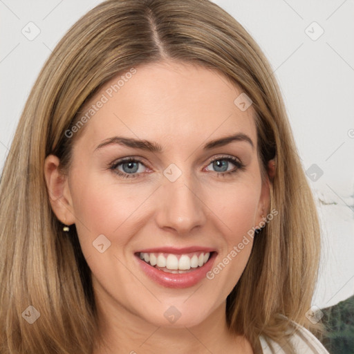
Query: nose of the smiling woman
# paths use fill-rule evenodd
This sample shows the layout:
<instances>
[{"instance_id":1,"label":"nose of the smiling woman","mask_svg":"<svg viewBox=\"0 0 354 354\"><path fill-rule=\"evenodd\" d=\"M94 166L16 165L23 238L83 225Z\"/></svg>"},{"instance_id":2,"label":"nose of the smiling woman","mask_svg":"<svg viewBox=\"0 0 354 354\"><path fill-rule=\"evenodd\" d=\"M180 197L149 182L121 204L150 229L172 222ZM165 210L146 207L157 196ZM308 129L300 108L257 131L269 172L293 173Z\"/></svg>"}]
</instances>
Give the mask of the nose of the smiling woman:
<instances>
[{"instance_id":1,"label":"nose of the smiling woman","mask_svg":"<svg viewBox=\"0 0 354 354\"><path fill-rule=\"evenodd\" d=\"M199 190L191 178L181 176L174 182L164 180L159 191L158 226L180 235L190 234L203 226L207 220L207 208Z\"/></svg>"}]
</instances>

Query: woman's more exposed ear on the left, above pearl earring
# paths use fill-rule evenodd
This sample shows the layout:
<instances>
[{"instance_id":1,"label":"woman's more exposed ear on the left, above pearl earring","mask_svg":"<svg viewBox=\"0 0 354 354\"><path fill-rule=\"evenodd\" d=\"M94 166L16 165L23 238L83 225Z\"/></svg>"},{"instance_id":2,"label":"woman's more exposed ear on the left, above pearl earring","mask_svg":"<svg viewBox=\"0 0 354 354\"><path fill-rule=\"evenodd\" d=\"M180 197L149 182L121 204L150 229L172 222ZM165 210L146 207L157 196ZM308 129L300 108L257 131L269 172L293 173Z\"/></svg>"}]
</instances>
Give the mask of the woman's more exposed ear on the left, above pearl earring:
<instances>
[{"instance_id":1,"label":"woman's more exposed ear on the left, above pearl earring","mask_svg":"<svg viewBox=\"0 0 354 354\"><path fill-rule=\"evenodd\" d=\"M46 157L44 162L44 178L50 205L59 221L65 225L75 223L73 201L68 185L68 176L59 172L59 158L54 155Z\"/></svg>"}]
</instances>

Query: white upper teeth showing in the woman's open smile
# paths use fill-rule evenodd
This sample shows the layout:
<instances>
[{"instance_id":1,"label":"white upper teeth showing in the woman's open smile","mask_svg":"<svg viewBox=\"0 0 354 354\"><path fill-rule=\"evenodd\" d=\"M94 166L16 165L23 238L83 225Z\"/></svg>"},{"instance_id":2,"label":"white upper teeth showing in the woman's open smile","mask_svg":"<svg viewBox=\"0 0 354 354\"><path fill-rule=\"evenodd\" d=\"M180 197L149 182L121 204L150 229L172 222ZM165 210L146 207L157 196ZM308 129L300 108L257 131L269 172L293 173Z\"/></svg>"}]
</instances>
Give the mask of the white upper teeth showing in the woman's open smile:
<instances>
[{"instance_id":1,"label":"white upper teeth showing in the woman's open smile","mask_svg":"<svg viewBox=\"0 0 354 354\"><path fill-rule=\"evenodd\" d=\"M151 267L162 270L162 272L185 274L203 267L212 257L213 253L203 251L187 254L137 252L136 257L139 257L142 261L151 265Z\"/></svg>"}]
</instances>

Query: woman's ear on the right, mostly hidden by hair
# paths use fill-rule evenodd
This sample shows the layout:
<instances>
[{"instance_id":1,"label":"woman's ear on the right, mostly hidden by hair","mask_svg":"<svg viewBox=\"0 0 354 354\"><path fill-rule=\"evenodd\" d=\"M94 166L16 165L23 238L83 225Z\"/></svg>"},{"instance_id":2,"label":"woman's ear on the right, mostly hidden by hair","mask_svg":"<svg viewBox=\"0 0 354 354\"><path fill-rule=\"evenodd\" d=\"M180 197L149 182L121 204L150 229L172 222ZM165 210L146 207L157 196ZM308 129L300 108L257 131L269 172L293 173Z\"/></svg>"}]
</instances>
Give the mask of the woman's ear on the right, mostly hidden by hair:
<instances>
[{"instance_id":1,"label":"woman's ear on the right, mostly hidden by hair","mask_svg":"<svg viewBox=\"0 0 354 354\"><path fill-rule=\"evenodd\" d=\"M269 160L267 166L267 173L264 180L262 181L261 197L259 198L259 205L257 209L256 216L256 227L257 229L262 228L267 220L267 214L269 213L270 205L270 185L275 176L275 160Z\"/></svg>"}]
</instances>

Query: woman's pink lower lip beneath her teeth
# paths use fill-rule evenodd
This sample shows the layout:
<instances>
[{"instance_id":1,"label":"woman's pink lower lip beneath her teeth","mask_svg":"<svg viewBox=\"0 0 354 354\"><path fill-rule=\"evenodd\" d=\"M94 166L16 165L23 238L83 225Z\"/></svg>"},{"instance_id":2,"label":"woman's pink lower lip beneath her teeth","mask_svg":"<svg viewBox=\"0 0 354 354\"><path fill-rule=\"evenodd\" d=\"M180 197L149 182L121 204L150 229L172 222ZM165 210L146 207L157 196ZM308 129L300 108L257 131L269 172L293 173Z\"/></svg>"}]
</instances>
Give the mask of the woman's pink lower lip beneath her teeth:
<instances>
[{"instance_id":1,"label":"woman's pink lower lip beneath her teeth","mask_svg":"<svg viewBox=\"0 0 354 354\"><path fill-rule=\"evenodd\" d=\"M145 274L147 274L147 276L153 281L156 281L156 283L161 286L165 286L165 288L189 288L196 285L199 281L204 279L207 272L212 269L215 258L216 252L212 252L207 263L205 263L202 267L195 268L196 270L192 270L192 272L173 274L158 270L145 261L142 261L139 256L136 256L143 272L145 272Z\"/></svg>"}]
</instances>

